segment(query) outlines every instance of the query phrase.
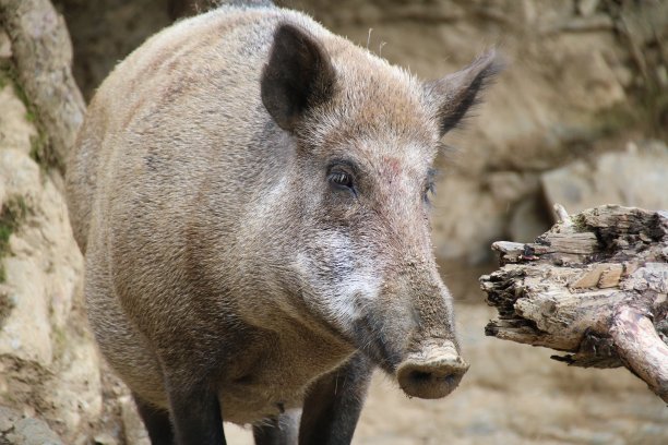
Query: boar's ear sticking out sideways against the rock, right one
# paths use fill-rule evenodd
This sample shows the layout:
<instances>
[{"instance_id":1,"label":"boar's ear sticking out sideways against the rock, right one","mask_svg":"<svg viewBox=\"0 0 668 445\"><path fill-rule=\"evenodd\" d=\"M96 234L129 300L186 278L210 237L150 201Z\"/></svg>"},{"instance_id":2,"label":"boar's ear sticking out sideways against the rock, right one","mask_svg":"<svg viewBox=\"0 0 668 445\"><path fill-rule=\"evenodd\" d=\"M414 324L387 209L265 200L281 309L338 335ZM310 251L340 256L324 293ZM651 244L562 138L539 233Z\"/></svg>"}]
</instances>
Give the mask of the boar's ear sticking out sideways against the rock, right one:
<instances>
[{"instance_id":1,"label":"boar's ear sticking out sideways against the rock, right one","mask_svg":"<svg viewBox=\"0 0 668 445\"><path fill-rule=\"evenodd\" d=\"M502 69L500 57L496 51L490 51L464 70L425 84L441 136L464 119L466 112L479 100L480 92Z\"/></svg>"}]
</instances>

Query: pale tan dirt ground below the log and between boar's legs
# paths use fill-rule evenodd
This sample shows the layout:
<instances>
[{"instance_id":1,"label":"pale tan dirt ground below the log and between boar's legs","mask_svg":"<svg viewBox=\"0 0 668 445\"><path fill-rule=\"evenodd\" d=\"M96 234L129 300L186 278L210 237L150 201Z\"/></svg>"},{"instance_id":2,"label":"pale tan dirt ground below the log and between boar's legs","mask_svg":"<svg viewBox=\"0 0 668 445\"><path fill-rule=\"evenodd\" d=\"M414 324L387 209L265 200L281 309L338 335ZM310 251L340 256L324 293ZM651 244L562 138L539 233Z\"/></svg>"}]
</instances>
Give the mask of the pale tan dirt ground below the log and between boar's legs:
<instances>
[{"instance_id":1,"label":"pale tan dirt ground below the log and between boar's legs","mask_svg":"<svg viewBox=\"0 0 668 445\"><path fill-rule=\"evenodd\" d=\"M377 372L354 444L668 443L668 409L627 370L569 368L550 360L548 349L486 337L494 310L477 277L489 267L441 266L472 364L461 386L445 399L409 399ZM232 445L253 443L235 425L226 425L226 435Z\"/></svg>"}]
</instances>

